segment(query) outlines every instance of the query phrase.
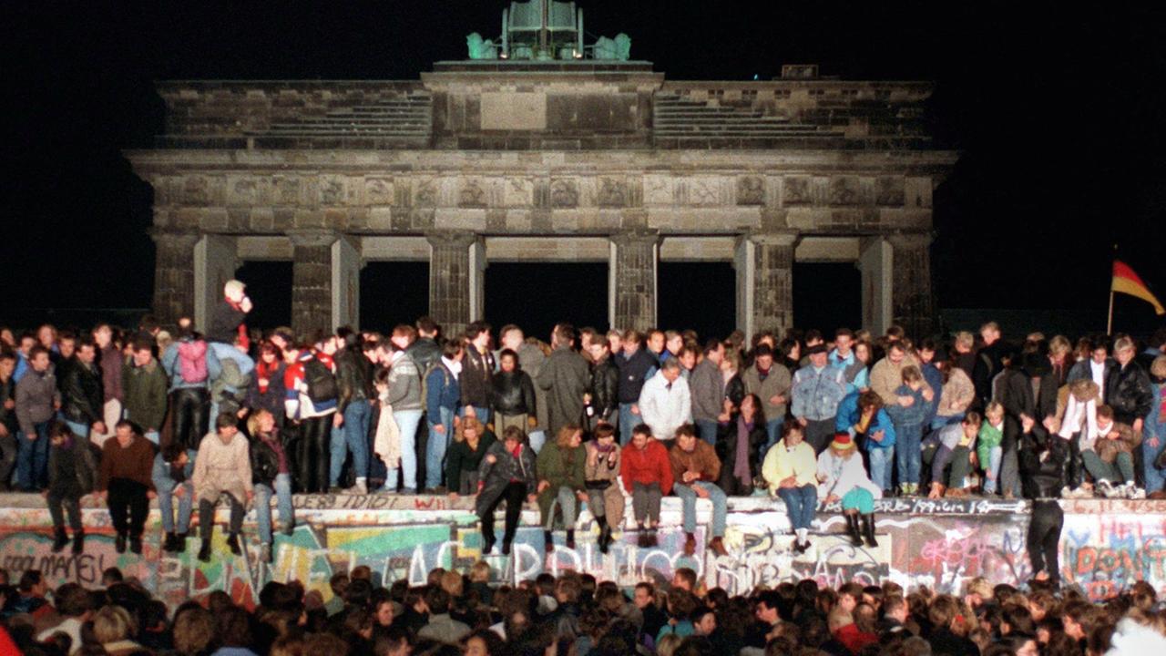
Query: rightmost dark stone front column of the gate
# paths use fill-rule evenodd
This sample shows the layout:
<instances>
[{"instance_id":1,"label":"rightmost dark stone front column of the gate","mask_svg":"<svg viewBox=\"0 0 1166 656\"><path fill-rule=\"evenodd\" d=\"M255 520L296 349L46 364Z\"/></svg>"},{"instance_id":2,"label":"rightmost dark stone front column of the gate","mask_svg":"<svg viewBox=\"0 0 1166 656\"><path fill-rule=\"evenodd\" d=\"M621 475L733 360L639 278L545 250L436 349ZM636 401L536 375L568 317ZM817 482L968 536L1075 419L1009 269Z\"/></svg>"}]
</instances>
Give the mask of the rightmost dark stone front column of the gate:
<instances>
[{"instance_id":1,"label":"rightmost dark stone front column of the gate","mask_svg":"<svg viewBox=\"0 0 1166 656\"><path fill-rule=\"evenodd\" d=\"M892 249L891 305L893 321L913 340L930 336L935 327L932 299L932 236L925 232L890 235Z\"/></svg>"}]
</instances>

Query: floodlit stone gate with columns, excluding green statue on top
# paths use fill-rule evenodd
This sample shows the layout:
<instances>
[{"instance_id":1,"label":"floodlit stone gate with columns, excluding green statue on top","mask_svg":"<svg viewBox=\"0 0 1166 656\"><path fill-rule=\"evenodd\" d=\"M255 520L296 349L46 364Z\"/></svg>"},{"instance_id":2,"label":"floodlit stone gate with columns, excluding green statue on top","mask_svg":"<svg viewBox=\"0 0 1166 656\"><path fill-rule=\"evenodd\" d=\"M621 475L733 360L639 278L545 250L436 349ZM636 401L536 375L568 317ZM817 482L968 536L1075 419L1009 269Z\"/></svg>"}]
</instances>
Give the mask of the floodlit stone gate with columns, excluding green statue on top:
<instances>
[{"instance_id":1,"label":"floodlit stone gate with columns, excluding green statue on top","mask_svg":"<svg viewBox=\"0 0 1166 656\"><path fill-rule=\"evenodd\" d=\"M655 322L661 252L731 259L738 327L787 328L803 240L815 260L859 263L864 319L930 327L932 190L956 154L921 127L923 83L673 83L645 62L461 62L420 82L159 90L167 134L127 158L155 191L164 321L197 313L196 289L218 274L188 254L205 235L239 253L282 252L290 237L300 330L358 323L345 280L360 260L423 238L430 314L450 332L482 315L485 244L522 237L607 239L620 328ZM890 266L864 264L871 239Z\"/></svg>"}]
</instances>

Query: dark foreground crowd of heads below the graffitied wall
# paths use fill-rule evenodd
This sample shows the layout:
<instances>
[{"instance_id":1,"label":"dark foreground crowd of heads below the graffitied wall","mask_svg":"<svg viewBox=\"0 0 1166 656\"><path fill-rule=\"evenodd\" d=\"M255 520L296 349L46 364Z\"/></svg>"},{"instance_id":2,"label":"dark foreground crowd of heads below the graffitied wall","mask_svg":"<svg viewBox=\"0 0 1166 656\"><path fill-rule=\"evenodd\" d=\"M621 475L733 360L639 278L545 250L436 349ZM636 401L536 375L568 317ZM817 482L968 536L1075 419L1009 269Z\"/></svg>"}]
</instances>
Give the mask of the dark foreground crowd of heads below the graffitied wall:
<instances>
[{"instance_id":1,"label":"dark foreground crowd of heads below the graffitied wall","mask_svg":"<svg viewBox=\"0 0 1166 656\"><path fill-rule=\"evenodd\" d=\"M265 585L174 612L117 568L98 589L0 571L0 655L28 656L1144 656L1166 651L1166 609L1138 582L1103 602L1048 581L962 582L960 594L813 579L730 596L689 568L628 591L567 571L491 585L490 565L385 587L366 566L331 595ZM384 581L387 584L387 581ZM253 608L250 608L251 606Z\"/></svg>"}]
</instances>

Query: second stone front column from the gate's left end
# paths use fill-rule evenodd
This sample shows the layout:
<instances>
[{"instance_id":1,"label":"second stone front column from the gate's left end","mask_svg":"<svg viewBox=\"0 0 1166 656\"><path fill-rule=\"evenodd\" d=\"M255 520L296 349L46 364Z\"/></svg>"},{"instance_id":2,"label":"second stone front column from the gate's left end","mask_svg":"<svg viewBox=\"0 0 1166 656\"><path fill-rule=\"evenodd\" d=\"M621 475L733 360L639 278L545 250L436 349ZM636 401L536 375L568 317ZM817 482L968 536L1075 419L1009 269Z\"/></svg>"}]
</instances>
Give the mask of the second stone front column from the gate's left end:
<instances>
[{"instance_id":1,"label":"second stone front column from the gate's left end","mask_svg":"<svg viewBox=\"0 0 1166 656\"><path fill-rule=\"evenodd\" d=\"M292 329L296 336L317 330L330 333L332 324L332 244L340 238L333 230L296 230L292 239Z\"/></svg>"}]
</instances>

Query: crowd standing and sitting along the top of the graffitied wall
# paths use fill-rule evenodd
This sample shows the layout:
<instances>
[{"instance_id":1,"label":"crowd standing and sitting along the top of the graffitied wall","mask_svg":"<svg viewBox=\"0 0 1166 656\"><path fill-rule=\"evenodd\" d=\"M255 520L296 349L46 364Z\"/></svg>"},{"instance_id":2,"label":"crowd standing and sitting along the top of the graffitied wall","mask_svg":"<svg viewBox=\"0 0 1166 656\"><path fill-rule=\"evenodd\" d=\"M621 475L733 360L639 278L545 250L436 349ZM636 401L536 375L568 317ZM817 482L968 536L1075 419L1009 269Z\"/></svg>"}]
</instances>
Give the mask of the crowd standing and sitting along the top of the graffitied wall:
<instances>
[{"instance_id":1,"label":"crowd standing and sitting along the top of the graffitied wall","mask_svg":"<svg viewBox=\"0 0 1166 656\"><path fill-rule=\"evenodd\" d=\"M216 503L231 507L236 553L254 504L268 561L272 500L290 533L293 491L473 496L485 552L504 554L524 502L538 503L548 551L574 547L585 505L606 553L625 528L655 544L660 500L676 495L691 554L709 500L705 547L724 554L728 496L781 498L806 551L820 502L841 507L855 545L874 545L880 497L982 494L1034 500L1030 554L1055 578L1053 500L1166 496L1166 329L1140 349L1125 335L1013 342L995 323L978 340L892 327L703 343L559 324L547 343L484 322L442 339L428 317L387 334L253 335L250 310L231 280L205 332L150 317L0 329L0 483L45 494L54 550L84 550L90 494L107 502L119 552L141 552L152 498L163 549L183 551L197 508L203 560Z\"/></svg>"}]
</instances>

